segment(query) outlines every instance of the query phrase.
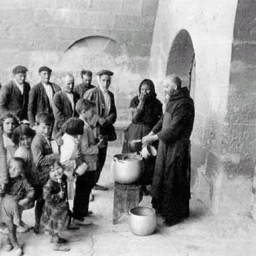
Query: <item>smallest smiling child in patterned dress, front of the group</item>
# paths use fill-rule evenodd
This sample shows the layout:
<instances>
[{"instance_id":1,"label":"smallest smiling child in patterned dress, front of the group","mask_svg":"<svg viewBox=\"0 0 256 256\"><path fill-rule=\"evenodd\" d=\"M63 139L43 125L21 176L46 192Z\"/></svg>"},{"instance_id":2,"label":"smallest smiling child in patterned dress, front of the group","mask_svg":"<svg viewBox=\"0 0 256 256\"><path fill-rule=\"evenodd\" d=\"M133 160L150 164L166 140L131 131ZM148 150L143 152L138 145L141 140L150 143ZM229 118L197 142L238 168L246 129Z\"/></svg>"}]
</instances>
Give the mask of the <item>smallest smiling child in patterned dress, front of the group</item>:
<instances>
[{"instance_id":1,"label":"smallest smiling child in patterned dress, front of the group","mask_svg":"<svg viewBox=\"0 0 256 256\"><path fill-rule=\"evenodd\" d=\"M43 199L46 201L41 218L41 231L52 236L53 250L68 251L62 244L67 240L60 238L60 233L70 225L70 208L68 204L67 177L58 161L50 167L50 179L43 187Z\"/></svg>"}]
</instances>

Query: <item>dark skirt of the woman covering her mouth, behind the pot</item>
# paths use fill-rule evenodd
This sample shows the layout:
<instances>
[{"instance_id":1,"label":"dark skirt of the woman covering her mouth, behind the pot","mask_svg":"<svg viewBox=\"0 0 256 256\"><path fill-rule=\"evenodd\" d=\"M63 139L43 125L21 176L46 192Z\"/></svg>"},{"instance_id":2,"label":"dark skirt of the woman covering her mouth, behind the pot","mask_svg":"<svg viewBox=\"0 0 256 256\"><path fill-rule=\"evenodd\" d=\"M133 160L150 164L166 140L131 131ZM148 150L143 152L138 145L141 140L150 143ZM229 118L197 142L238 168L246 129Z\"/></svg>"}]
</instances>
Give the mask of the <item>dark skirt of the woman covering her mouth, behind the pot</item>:
<instances>
[{"instance_id":1,"label":"dark skirt of the woman covering her mouth, behind the pot","mask_svg":"<svg viewBox=\"0 0 256 256\"><path fill-rule=\"evenodd\" d=\"M151 131L150 126L139 123L131 123L127 130L124 133L124 143L122 147L122 153L134 153L134 150L129 147L129 141L131 140L141 140L144 136L148 135ZM158 143L153 144L154 148L157 150ZM142 148L138 148L138 151L141 151ZM143 185L149 185L152 183L154 166L156 162L156 157L150 157L147 160L144 160L143 170L142 170L142 179L141 182Z\"/></svg>"}]
</instances>

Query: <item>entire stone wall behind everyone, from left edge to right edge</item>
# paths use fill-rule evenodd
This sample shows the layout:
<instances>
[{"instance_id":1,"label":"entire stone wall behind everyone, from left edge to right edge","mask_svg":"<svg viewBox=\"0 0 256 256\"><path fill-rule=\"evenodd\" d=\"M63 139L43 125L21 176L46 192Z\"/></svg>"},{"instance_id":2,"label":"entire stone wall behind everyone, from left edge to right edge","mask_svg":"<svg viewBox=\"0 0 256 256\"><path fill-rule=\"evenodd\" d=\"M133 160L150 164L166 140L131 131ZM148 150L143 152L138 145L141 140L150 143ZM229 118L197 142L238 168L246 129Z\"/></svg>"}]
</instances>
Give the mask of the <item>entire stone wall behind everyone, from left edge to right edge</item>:
<instances>
[{"instance_id":1,"label":"entire stone wall behind everyone, from left edge to right edge","mask_svg":"<svg viewBox=\"0 0 256 256\"><path fill-rule=\"evenodd\" d=\"M253 0L1 0L0 4L2 84L18 64L28 67L31 85L38 82L41 65L53 69L52 80L58 84L66 71L73 72L78 83L82 68L92 72L110 68L117 126L126 126L129 101L142 79L153 79L162 101L166 74L178 73L185 86L191 79L196 106L193 196L214 213L250 211L256 153Z\"/></svg>"}]
</instances>

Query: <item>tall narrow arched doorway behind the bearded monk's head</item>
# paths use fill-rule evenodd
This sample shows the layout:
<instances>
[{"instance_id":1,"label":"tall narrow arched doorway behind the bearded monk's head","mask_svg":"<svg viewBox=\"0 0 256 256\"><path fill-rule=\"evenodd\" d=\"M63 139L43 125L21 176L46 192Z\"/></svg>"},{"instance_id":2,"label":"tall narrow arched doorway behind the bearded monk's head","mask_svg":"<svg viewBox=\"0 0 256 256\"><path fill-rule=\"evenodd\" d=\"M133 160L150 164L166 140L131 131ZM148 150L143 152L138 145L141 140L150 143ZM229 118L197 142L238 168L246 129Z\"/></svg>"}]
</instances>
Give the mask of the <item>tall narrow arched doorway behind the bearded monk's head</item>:
<instances>
[{"instance_id":1,"label":"tall narrow arched doorway behind the bearded monk's head","mask_svg":"<svg viewBox=\"0 0 256 256\"><path fill-rule=\"evenodd\" d=\"M183 87L188 87L194 96L196 82L196 59L191 36L187 30L181 30L169 52L166 75L176 74L181 77Z\"/></svg>"}]
</instances>

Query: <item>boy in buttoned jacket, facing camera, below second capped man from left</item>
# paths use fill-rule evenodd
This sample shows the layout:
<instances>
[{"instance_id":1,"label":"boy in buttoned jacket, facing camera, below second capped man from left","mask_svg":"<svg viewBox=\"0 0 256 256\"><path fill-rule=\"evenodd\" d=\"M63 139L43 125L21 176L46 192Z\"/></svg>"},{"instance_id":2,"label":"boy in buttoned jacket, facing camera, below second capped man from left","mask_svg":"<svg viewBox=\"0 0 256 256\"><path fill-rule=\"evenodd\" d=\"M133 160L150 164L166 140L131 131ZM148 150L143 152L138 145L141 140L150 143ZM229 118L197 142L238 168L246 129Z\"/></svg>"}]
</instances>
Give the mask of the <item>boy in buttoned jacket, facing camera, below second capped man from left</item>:
<instances>
[{"instance_id":1,"label":"boy in buttoned jacket, facing camera, below second capped man from left","mask_svg":"<svg viewBox=\"0 0 256 256\"><path fill-rule=\"evenodd\" d=\"M60 156L53 154L50 145L50 133L53 126L53 119L49 113L38 113L36 115L36 136L31 143L33 162L36 168L33 169L33 181L31 184L36 189L35 206L35 228L34 232L39 233L40 220L43 212L43 186L49 179L50 166Z\"/></svg>"}]
</instances>

